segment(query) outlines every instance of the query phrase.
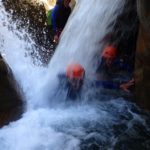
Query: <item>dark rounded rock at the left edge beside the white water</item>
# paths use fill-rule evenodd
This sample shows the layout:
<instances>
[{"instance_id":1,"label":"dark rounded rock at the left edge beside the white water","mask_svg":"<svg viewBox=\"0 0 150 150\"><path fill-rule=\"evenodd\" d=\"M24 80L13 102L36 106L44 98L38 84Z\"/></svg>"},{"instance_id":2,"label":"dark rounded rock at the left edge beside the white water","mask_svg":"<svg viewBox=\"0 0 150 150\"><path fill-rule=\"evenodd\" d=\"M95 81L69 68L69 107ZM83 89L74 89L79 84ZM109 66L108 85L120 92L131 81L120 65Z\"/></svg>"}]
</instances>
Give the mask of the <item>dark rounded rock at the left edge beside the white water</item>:
<instances>
[{"instance_id":1,"label":"dark rounded rock at the left edge beside the white water","mask_svg":"<svg viewBox=\"0 0 150 150\"><path fill-rule=\"evenodd\" d=\"M23 112L21 93L17 91L11 69L0 57L0 127L19 118Z\"/></svg>"}]
</instances>

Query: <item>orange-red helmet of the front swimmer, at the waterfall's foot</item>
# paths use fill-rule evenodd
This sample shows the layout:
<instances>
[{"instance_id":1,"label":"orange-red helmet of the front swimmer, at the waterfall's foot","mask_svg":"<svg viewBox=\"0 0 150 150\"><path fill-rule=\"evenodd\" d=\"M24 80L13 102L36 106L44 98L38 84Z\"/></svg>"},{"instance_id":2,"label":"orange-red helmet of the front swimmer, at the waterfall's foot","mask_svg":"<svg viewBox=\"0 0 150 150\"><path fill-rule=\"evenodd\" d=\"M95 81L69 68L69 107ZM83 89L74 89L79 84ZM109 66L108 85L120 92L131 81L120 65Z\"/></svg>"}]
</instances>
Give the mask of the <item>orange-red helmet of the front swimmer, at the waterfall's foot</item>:
<instances>
[{"instance_id":1,"label":"orange-red helmet of the front swimmer, at the waterfall's foot","mask_svg":"<svg viewBox=\"0 0 150 150\"><path fill-rule=\"evenodd\" d=\"M70 64L67 67L66 76L68 78L83 79L84 74L85 74L84 68L78 63Z\"/></svg>"}]
</instances>

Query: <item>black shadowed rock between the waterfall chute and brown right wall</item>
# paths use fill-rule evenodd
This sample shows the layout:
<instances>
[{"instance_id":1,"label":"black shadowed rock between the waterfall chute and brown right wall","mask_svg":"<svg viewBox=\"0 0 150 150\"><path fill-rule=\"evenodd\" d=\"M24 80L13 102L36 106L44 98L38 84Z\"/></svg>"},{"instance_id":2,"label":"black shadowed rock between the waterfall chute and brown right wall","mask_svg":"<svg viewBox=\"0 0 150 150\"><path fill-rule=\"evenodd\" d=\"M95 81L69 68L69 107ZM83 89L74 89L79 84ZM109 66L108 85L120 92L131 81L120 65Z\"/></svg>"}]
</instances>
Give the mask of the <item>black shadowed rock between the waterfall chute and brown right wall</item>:
<instances>
[{"instance_id":1,"label":"black shadowed rock between the waterfall chute and brown right wall","mask_svg":"<svg viewBox=\"0 0 150 150\"><path fill-rule=\"evenodd\" d=\"M109 24L104 42L106 41L106 45L114 45L117 48L117 58L121 58L124 64L130 68L126 69L128 75L125 75L130 79L133 77L134 72L136 41L139 28L136 0L125 0L121 11L116 11L116 13L118 16L115 21Z\"/></svg>"}]
</instances>

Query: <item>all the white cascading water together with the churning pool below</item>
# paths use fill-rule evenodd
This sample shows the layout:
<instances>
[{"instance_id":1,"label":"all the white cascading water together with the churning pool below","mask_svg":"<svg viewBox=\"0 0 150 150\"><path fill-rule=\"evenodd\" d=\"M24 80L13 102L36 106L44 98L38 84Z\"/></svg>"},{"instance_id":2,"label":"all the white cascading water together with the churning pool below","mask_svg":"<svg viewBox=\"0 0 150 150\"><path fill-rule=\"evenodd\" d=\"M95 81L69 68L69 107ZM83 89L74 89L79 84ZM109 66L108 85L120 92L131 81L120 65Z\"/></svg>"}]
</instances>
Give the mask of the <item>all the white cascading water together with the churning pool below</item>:
<instances>
[{"instance_id":1,"label":"all the white cascading water together with the churning pool below","mask_svg":"<svg viewBox=\"0 0 150 150\"><path fill-rule=\"evenodd\" d=\"M123 3L78 1L51 62L44 68L33 65L32 58L25 55L33 49L33 41L27 33L17 31L15 24L8 29L7 13L0 2L0 51L5 54L27 102L23 117L0 130L0 150L150 148L150 118L134 104L123 98L108 96L107 101L102 101L84 96L88 100L67 105L64 95L56 92L57 74L64 72L70 62L81 63L87 74L95 71L94 54L100 51L99 42ZM53 97L54 93L58 96Z\"/></svg>"}]
</instances>

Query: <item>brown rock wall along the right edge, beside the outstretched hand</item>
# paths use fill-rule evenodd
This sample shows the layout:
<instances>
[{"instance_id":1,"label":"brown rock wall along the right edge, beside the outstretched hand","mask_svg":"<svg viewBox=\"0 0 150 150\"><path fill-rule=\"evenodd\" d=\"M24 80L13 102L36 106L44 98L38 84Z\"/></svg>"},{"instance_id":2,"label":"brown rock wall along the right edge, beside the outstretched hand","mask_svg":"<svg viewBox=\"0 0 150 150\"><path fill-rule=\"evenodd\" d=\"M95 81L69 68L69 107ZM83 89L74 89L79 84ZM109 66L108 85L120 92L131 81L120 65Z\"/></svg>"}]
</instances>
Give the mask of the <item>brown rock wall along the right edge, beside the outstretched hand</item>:
<instances>
[{"instance_id":1,"label":"brown rock wall along the right edge, beside the outstretched hand","mask_svg":"<svg viewBox=\"0 0 150 150\"><path fill-rule=\"evenodd\" d=\"M140 28L135 61L136 101L150 110L150 1L137 1Z\"/></svg>"}]
</instances>

